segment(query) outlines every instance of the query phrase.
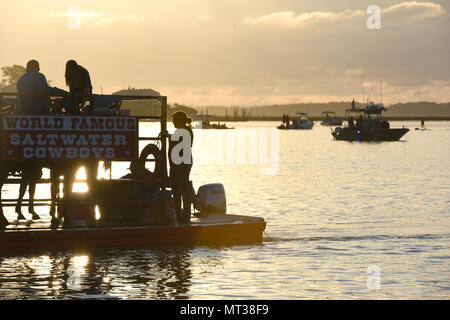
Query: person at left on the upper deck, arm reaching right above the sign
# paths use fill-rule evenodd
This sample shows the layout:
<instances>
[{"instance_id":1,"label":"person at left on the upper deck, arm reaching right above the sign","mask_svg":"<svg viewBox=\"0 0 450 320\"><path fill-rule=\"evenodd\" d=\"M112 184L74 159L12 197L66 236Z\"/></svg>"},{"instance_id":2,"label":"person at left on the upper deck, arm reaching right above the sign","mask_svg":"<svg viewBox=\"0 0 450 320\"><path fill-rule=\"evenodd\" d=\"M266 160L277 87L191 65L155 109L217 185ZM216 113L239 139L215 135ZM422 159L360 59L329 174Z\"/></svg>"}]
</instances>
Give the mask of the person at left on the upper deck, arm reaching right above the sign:
<instances>
[{"instance_id":1,"label":"person at left on the upper deck, arm reaching right above the sign","mask_svg":"<svg viewBox=\"0 0 450 320\"><path fill-rule=\"evenodd\" d=\"M17 92L23 94L68 94L62 89L50 87L45 76L39 71L39 62L28 61L25 73L17 81ZM50 114L50 106L50 97L48 96L21 96L16 113L46 115Z\"/></svg>"}]
</instances>

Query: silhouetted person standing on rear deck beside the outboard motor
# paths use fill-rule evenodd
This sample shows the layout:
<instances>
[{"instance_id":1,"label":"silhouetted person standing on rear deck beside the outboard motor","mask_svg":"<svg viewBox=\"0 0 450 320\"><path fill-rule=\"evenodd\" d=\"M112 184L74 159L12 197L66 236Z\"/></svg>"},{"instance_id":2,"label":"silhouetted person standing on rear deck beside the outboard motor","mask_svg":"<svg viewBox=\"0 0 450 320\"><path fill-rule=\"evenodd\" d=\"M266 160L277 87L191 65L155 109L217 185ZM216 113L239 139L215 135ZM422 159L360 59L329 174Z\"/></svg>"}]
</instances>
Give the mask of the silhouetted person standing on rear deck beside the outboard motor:
<instances>
[{"instance_id":1,"label":"silhouetted person standing on rear deck beside the outboard motor","mask_svg":"<svg viewBox=\"0 0 450 320\"><path fill-rule=\"evenodd\" d=\"M172 115L172 120L176 130L170 137L169 164L175 212L178 222L189 223L191 219L189 174L192 168L191 149L194 141L194 133L190 125L192 119L185 112L178 111ZM186 151L189 154L186 154ZM183 199L183 209L181 209L181 199Z\"/></svg>"}]
</instances>

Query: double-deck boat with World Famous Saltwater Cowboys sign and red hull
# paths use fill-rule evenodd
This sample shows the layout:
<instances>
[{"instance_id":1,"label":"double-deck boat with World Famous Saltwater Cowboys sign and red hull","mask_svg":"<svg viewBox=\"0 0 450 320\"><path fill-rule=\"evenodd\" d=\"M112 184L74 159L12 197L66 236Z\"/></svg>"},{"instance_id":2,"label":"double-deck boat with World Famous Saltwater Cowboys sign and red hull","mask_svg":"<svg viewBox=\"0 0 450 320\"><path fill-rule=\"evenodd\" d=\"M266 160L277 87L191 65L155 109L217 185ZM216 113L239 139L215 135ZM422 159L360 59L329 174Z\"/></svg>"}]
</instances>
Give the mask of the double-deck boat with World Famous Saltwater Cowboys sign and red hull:
<instances>
[{"instance_id":1,"label":"double-deck boat with World Famous Saltwater Cowboys sign and red hull","mask_svg":"<svg viewBox=\"0 0 450 320\"><path fill-rule=\"evenodd\" d=\"M40 95L40 94L37 94ZM242 244L262 240L263 218L227 212L225 188L220 183L191 187L194 214L180 223L175 215L170 178L167 174L167 97L94 95L93 114L68 115L52 99L51 115L14 114L17 93L0 93L0 161L3 166L40 165L59 168L75 161L109 164L109 179L91 181L89 190L57 194L52 199L34 199L35 206L57 207L55 216L39 220L11 220L3 207L17 199L1 199L0 250L146 246L164 244ZM4 99L5 98L5 99ZM120 110L124 100L156 100L158 116L132 116ZM8 104L8 105L5 105ZM139 122L158 120L157 137L140 136ZM140 148L140 143L147 143ZM139 152L139 150L141 151ZM71 162L72 161L72 162ZM112 179L112 163L154 163L151 176ZM15 168L16 168L15 167ZM10 174L3 183L19 184ZM86 182L87 180L84 180ZM63 183L59 179L37 183ZM77 181L79 182L79 181ZM192 185L191 185L192 186ZM10 192L9 192L10 194ZM24 200L22 205L29 205Z\"/></svg>"}]
</instances>

